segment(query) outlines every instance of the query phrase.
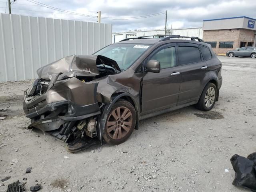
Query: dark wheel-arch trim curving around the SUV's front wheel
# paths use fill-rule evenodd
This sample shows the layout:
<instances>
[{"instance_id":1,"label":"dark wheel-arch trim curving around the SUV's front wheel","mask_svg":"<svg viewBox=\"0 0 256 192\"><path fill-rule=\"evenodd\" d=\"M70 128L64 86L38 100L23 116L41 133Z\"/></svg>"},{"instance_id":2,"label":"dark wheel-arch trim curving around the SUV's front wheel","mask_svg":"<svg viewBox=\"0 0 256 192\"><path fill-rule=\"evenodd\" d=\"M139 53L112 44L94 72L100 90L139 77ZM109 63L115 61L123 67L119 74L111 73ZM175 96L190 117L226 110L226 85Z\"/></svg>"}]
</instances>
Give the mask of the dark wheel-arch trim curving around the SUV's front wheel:
<instances>
[{"instance_id":1,"label":"dark wheel-arch trim curving around the SUV's front wheel","mask_svg":"<svg viewBox=\"0 0 256 192\"><path fill-rule=\"evenodd\" d=\"M103 137L103 133L104 133L104 129L105 129L106 120L108 118L108 114L109 114L112 106L116 103L116 101L123 96L129 96L130 98L132 98L132 100L135 104L135 110L136 110L136 114L137 114L137 122L136 122L135 128L138 129L139 110L138 110L138 104L137 104L136 100L134 99L134 97L131 94L129 94L127 92L118 94L114 97L114 99L112 100L111 103L103 104L101 114L99 114L97 116L97 119L98 119L97 136L100 140L100 144L102 144L102 137Z\"/></svg>"}]
</instances>

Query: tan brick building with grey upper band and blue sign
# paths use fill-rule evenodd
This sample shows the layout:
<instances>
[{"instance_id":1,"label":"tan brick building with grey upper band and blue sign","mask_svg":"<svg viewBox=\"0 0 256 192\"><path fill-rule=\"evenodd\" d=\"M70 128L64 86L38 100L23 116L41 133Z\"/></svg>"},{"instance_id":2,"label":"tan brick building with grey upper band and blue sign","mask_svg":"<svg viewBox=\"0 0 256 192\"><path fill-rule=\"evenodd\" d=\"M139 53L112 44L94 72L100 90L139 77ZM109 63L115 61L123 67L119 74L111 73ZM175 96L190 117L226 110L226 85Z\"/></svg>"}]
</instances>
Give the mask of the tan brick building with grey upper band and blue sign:
<instances>
[{"instance_id":1,"label":"tan brick building with grey upper band and blue sign","mask_svg":"<svg viewBox=\"0 0 256 192\"><path fill-rule=\"evenodd\" d=\"M256 46L256 19L242 17L204 20L204 41L216 54L244 46Z\"/></svg>"}]
</instances>

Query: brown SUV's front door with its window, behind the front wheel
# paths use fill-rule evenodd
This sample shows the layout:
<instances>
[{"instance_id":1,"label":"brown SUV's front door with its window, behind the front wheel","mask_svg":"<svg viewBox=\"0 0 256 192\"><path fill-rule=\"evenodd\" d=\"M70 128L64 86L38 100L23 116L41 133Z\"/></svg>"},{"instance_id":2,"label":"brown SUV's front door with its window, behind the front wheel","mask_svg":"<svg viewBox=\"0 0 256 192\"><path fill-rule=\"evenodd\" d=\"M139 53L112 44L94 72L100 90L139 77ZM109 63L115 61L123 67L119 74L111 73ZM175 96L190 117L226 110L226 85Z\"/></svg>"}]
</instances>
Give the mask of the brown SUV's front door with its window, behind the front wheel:
<instances>
[{"instance_id":1,"label":"brown SUV's front door with its window, behind the front wheel","mask_svg":"<svg viewBox=\"0 0 256 192\"><path fill-rule=\"evenodd\" d=\"M176 65L176 46L156 49L148 60L160 62L160 73L147 72L142 81L142 115L176 106L180 89L180 67Z\"/></svg>"}]
</instances>

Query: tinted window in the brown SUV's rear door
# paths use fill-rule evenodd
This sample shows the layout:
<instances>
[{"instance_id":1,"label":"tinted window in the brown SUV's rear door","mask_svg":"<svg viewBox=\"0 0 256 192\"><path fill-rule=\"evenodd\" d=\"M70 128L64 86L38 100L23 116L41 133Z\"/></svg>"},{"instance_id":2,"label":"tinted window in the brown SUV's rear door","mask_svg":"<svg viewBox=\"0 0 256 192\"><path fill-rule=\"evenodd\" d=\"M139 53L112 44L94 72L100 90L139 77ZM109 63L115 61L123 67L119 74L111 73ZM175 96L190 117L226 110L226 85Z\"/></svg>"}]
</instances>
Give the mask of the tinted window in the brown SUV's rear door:
<instances>
[{"instance_id":1,"label":"tinted window in the brown SUV's rear door","mask_svg":"<svg viewBox=\"0 0 256 192\"><path fill-rule=\"evenodd\" d=\"M179 64L189 64L201 61L198 47L179 46Z\"/></svg>"}]
</instances>

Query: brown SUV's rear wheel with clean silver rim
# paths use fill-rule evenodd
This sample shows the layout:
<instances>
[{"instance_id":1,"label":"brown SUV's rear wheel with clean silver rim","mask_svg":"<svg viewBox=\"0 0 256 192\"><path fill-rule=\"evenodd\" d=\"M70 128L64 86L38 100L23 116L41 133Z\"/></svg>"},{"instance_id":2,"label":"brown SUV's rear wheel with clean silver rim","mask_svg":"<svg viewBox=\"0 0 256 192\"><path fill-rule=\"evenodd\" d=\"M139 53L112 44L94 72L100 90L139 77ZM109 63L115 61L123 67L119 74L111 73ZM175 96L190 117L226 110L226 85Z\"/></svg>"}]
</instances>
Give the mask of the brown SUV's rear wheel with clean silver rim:
<instances>
[{"instance_id":1,"label":"brown SUV's rear wheel with clean silver rim","mask_svg":"<svg viewBox=\"0 0 256 192\"><path fill-rule=\"evenodd\" d=\"M214 91L213 91L214 90ZM211 92L211 93L210 93ZM210 95L209 95L210 93ZM214 95L214 96L213 96ZM217 88L213 83L208 83L196 104L196 108L202 111L209 111L214 107L217 98Z\"/></svg>"}]
</instances>

